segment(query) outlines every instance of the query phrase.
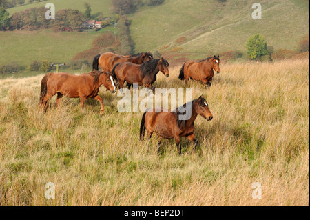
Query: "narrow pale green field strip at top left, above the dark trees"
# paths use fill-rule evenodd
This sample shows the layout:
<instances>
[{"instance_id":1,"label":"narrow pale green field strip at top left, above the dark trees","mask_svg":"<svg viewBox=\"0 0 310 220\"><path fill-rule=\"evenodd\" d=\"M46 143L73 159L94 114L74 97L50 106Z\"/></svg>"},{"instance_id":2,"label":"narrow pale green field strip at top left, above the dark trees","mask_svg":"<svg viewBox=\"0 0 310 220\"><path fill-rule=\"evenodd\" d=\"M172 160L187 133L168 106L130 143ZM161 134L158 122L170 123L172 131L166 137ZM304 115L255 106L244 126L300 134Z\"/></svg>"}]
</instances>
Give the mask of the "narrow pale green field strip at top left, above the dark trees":
<instances>
[{"instance_id":1,"label":"narrow pale green field strip at top left, above the dark trees","mask_svg":"<svg viewBox=\"0 0 310 220\"><path fill-rule=\"evenodd\" d=\"M37 2L37 3L32 3L28 4L25 6L17 6L14 8L8 8L7 11L10 13L10 16L14 14L15 12L19 12L22 10L25 10L27 8L34 8L34 7L44 7L46 3L50 1L42 1L42 2ZM76 1L76 0L53 0L51 1L54 3L56 11L60 9L65 9L65 8L72 8L72 9L78 9L84 12L84 3L86 1ZM103 13L103 16L110 16L112 15L112 10L110 10L110 3L111 0L87 0L87 3L90 3L90 6L92 8L92 14L97 14L97 13Z\"/></svg>"}]
</instances>

